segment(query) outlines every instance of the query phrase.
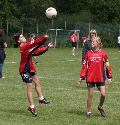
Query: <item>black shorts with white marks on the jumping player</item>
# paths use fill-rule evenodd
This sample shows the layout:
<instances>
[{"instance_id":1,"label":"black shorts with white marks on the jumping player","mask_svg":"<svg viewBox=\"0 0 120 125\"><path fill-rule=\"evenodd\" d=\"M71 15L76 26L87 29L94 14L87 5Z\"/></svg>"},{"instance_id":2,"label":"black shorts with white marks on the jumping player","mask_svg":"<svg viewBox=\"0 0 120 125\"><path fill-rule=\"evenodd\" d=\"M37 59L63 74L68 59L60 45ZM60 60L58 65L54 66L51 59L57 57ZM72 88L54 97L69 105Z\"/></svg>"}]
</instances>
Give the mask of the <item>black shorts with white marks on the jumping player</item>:
<instances>
[{"instance_id":1,"label":"black shorts with white marks on the jumping player","mask_svg":"<svg viewBox=\"0 0 120 125\"><path fill-rule=\"evenodd\" d=\"M25 82L25 83L32 83L33 76L35 75L35 72L31 72L31 73L22 72L22 73L20 73L20 75L21 75L21 78L22 78L23 82Z\"/></svg>"}]
</instances>

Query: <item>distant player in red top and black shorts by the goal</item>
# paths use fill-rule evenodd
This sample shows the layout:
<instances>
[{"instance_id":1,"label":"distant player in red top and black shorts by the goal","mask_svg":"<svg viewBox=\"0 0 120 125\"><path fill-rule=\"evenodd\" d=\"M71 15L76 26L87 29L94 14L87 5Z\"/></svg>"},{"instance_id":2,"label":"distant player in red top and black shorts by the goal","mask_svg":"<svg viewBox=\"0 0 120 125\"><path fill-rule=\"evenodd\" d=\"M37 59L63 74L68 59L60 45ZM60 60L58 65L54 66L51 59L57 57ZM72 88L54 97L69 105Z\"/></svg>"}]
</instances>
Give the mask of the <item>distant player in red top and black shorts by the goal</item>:
<instances>
[{"instance_id":1,"label":"distant player in red top and black shorts by the goal","mask_svg":"<svg viewBox=\"0 0 120 125\"><path fill-rule=\"evenodd\" d=\"M70 36L70 41L72 42L72 55L75 56L75 48L77 47L77 31L74 31L74 33Z\"/></svg>"}]
</instances>

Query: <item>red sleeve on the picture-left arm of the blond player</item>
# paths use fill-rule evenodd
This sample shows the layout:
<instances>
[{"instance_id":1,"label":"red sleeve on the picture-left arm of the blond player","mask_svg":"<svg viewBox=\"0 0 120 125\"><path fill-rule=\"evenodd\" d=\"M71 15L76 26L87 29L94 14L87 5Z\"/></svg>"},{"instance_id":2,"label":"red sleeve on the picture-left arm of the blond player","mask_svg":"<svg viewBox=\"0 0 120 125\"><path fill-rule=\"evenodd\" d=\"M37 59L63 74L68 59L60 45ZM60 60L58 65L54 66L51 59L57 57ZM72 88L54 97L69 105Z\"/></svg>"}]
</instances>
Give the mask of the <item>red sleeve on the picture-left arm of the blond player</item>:
<instances>
[{"instance_id":1,"label":"red sleeve on the picture-left arm of the blond player","mask_svg":"<svg viewBox=\"0 0 120 125\"><path fill-rule=\"evenodd\" d=\"M86 53L84 62L82 64L82 70L81 70L81 73L80 73L80 78L85 79L86 74L87 74L87 53Z\"/></svg>"}]
</instances>

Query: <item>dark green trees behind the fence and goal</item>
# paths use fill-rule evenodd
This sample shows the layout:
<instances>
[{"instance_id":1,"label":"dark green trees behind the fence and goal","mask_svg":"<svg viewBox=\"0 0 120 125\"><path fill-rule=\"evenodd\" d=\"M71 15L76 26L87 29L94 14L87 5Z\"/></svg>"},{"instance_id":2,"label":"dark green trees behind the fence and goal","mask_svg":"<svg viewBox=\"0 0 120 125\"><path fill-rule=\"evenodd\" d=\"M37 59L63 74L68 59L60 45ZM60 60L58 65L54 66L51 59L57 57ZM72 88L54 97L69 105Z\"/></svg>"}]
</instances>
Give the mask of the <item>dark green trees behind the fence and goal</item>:
<instances>
[{"instance_id":1,"label":"dark green trees behind the fence and goal","mask_svg":"<svg viewBox=\"0 0 120 125\"><path fill-rule=\"evenodd\" d=\"M58 11L52 26L45 16L45 10L50 6ZM22 30L26 34L36 33L38 29L41 34L48 28L65 28L66 21L68 29L78 28L88 34L89 23L102 23L107 24L106 28L104 25L93 27L106 36L106 41L114 41L120 34L119 13L119 0L0 0L0 27L5 28L7 36ZM87 24L83 26L83 23Z\"/></svg>"}]
</instances>

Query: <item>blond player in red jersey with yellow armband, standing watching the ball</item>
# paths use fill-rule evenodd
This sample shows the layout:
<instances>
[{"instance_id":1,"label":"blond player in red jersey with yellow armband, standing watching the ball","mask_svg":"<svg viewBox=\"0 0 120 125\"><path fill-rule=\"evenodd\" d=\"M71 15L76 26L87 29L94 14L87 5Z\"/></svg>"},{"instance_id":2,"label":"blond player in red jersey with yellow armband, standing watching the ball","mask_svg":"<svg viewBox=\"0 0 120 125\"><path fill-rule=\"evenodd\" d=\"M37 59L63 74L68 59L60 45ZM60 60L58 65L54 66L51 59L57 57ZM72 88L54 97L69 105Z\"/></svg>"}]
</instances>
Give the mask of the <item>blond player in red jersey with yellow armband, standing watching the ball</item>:
<instances>
[{"instance_id":1,"label":"blond player in red jersey with yellow armband, standing watching the ball","mask_svg":"<svg viewBox=\"0 0 120 125\"><path fill-rule=\"evenodd\" d=\"M112 83L112 72L109 65L108 57L104 50L101 50L101 39L95 37L92 39L92 48L86 53L82 70L80 73L79 82L81 83L83 79L86 78L86 83L88 87L88 99L87 99L87 116L92 115L92 97L93 89L96 86L100 91L100 103L98 105L98 110L101 116L105 117L106 113L103 109L103 104L105 101L105 73L104 73L104 63L106 64L106 76L108 78L108 83Z\"/></svg>"}]
</instances>

